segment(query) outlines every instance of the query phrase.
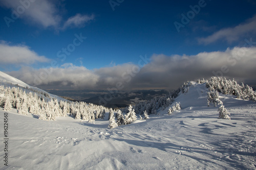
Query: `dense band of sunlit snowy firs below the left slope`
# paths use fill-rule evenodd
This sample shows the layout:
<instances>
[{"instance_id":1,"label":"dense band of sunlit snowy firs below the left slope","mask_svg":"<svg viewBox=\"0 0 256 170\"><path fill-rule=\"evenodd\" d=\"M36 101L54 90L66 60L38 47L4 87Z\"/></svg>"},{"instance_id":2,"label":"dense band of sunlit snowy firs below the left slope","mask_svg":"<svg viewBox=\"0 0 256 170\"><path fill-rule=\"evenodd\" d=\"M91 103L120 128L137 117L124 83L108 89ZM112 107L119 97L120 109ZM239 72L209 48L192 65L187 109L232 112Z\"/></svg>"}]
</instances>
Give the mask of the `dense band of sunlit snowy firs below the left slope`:
<instances>
[{"instance_id":1,"label":"dense band of sunlit snowy firs below the left slope","mask_svg":"<svg viewBox=\"0 0 256 170\"><path fill-rule=\"evenodd\" d=\"M9 111L17 109L20 114L32 113L43 120L55 120L57 116L74 116L75 119L94 123L95 118L104 118L109 109L84 102L58 101L47 93L24 87L0 86L0 107Z\"/></svg>"}]
</instances>

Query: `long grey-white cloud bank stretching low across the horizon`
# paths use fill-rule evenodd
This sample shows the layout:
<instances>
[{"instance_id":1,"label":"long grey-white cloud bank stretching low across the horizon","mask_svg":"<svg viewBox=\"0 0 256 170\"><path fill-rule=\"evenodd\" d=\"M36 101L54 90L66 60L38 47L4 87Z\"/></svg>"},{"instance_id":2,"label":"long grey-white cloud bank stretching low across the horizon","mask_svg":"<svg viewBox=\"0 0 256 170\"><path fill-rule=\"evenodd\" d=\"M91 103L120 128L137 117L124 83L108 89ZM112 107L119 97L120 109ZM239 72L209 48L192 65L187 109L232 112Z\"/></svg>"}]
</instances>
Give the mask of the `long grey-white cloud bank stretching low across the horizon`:
<instances>
[{"instance_id":1,"label":"long grey-white cloud bank stretching low across the horizon","mask_svg":"<svg viewBox=\"0 0 256 170\"><path fill-rule=\"evenodd\" d=\"M256 85L256 47L234 47L191 56L155 54L143 67L139 65L140 62L125 63L89 70L67 63L47 69L23 67L8 74L44 89L176 89L183 82L212 76Z\"/></svg>"}]
</instances>

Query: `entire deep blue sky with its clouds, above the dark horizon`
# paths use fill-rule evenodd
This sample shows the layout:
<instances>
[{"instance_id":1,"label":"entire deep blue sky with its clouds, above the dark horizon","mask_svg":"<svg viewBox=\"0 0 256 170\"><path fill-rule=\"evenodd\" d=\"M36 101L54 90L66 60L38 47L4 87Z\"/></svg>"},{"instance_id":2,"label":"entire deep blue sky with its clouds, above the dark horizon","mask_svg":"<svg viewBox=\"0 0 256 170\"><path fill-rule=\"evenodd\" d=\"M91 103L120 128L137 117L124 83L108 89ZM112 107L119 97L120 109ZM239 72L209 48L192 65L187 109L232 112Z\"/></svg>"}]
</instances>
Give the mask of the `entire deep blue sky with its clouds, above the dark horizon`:
<instances>
[{"instance_id":1,"label":"entire deep blue sky with its clouds, above the dark horizon","mask_svg":"<svg viewBox=\"0 0 256 170\"><path fill-rule=\"evenodd\" d=\"M255 44L248 45L245 39L251 38L252 42L256 41L256 1L252 0L224 2L0 0L0 5L2 45L0 70L26 83L45 88L60 88L57 87L59 83L62 83L62 87L65 88L115 87L118 81L127 82L122 76L125 70L119 70L119 68L126 68L126 66L132 68L140 61L140 56L145 55L151 58L151 62L145 63L145 67L140 68L139 76L132 76L133 80L125 85L131 87L130 83L137 84L133 88L175 87L176 84L166 84L161 80L156 83L150 79L152 75L158 77L156 72L173 75L175 71L179 71L178 73L181 74L180 70L167 69L164 70L167 72L164 72L150 69L154 62L163 60L162 56L166 61L172 61L173 63L170 63L172 65L177 64L177 60L172 60L175 56L179 56L180 61L182 56L190 59L203 52L209 55L217 52L226 54L228 48L234 51L234 47L252 48L248 50L251 53L254 52ZM193 11L191 7L197 11ZM16 12L21 10L17 18L13 18L13 10ZM187 23L183 22L185 24L178 31L174 23L182 24L183 14L186 17L191 14L190 19L186 20ZM79 45L74 46L75 35L82 35L86 39L82 39ZM79 41L75 42L78 44ZM70 54L66 55L67 53L65 54L62 49L68 47L70 49L68 54L69 52ZM58 53L59 51L62 52ZM13 57L15 54L19 55ZM66 59L61 61L63 58L59 58L57 54L65 54ZM57 66L51 65L53 61L56 61ZM195 63L191 61L188 63L192 63L191 67L195 68ZM230 65L230 63L227 64ZM246 65L245 62L243 64L243 66ZM222 65L211 66L213 66L211 70L207 70L209 73L218 71ZM235 66L238 67L238 64ZM33 74L38 72L40 76L41 69L44 67L52 67L55 71L67 68L65 71L71 69L74 74L81 72L83 75L91 74L88 75L88 80L95 83L88 85L88 82L79 82L79 78L74 80L72 75L70 78L54 81L55 76L60 75L52 71L44 81L34 83ZM254 77L245 76L246 71L245 75L238 75L231 68L235 67L232 65L230 71L224 76L232 76L241 81L254 80ZM169 71L173 71L173 74ZM205 70L198 71L199 78L214 76L200 74L202 71ZM115 72L122 74L118 76L114 74ZM143 76L140 75L142 72ZM66 72L65 74L68 75ZM151 76L146 78L146 75ZM143 82L137 80L140 76L145 79ZM177 82L180 83L189 78L183 75L181 77L183 79L177 79ZM175 77L170 76L170 78ZM194 76L191 79L194 79ZM77 82L79 85L76 84Z\"/></svg>"}]
</instances>

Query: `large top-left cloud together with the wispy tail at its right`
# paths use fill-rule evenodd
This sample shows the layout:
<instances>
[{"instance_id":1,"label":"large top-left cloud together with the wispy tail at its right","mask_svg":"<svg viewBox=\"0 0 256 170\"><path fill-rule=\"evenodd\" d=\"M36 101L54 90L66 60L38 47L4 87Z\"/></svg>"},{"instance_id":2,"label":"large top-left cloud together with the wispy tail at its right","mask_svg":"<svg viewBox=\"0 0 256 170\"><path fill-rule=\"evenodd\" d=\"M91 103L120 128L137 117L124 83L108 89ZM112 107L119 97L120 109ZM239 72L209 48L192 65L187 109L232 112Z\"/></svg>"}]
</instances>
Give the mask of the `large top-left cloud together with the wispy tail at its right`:
<instances>
[{"instance_id":1,"label":"large top-left cloud together with the wispy tail at its right","mask_svg":"<svg viewBox=\"0 0 256 170\"><path fill-rule=\"evenodd\" d=\"M17 18L23 18L29 23L36 23L46 28L53 27L60 30L68 27L83 27L84 23L93 20L94 15L76 14L67 21L63 20L63 16L58 9L58 1L53 0L36 0L36 1L5 1L0 0L0 5L9 9L13 9L17 14ZM9 18L11 17L7 16ZM16 17L16 15L15 15ZM15 19L17 19L15 18ZM13 19L13 18L12 18Z\"/></svg>"}]
</instances>

